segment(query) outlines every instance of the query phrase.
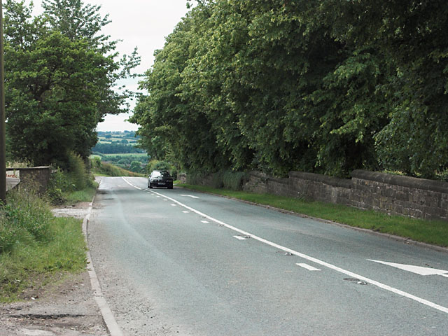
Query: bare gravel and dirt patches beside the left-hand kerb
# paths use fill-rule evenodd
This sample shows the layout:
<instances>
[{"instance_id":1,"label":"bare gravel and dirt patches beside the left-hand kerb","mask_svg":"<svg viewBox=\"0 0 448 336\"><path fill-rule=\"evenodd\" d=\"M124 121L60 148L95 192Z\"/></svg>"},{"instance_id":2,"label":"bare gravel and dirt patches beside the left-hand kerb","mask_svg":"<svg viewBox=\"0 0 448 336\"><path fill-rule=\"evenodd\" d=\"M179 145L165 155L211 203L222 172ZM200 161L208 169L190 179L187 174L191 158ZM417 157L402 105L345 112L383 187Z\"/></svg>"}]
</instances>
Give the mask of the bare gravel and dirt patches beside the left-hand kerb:
<instances>
[{"instance_id":1,"label":"bare gravel and dirt patches beside the left-hand kerb","mask_svg":"<svg viewBox=\"0 0 448 336\"><path fill-rule=\"evenodd\" d=\"M55 216L83 219L89 203L53 209ZM59 274L44 288L23 293L22 302L0 305L1 336L108 335L87 270Z\"/></svg>"}]
</instances>

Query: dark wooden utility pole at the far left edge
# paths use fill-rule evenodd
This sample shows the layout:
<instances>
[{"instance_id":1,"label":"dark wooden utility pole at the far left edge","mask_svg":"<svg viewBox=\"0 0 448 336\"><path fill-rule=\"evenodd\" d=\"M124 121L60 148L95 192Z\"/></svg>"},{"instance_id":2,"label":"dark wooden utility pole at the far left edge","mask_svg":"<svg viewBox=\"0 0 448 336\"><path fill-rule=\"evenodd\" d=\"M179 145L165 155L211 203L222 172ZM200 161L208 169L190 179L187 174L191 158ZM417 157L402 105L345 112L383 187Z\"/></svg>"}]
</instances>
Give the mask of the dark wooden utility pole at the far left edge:
<instances>
[{"instance_id":1,"label":"dark wooden utility pole at the far left edge","mask_svg":"<svg viewBox=\"0 0 448 336\"><path fill-rule=\"evenodd\" d=\"M3 3L0 0L0 203L6 204L5 66L3 57Z\"/></svg>"}]
</instances>

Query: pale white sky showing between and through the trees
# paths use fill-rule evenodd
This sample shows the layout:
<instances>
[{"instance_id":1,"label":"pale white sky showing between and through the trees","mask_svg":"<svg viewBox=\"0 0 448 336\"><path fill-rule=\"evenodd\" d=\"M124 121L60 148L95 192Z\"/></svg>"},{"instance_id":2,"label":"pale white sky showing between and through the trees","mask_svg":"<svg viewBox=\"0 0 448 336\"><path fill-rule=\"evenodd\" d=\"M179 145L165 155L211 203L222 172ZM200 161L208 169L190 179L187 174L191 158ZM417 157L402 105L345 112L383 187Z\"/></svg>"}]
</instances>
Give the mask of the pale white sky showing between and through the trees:
<instances>
[{"instance_id":1,"label":"pale white sky showing between and through the trees","mask_svg":"<svg viewBox=\"0 0 448 336\"><path fill-rule=\"evenodd\" d=\"M27 3L30 1L28 0ZM181 21L188 9L186 0L83 0L84 3L102 6L102 15L109 14L112 22L102 32L110 35L112 40L123 40L118 43L120 55L130 55L137 46L141 56L141 65L135 70L144 73L154 62L154 50L163 48L168 36ZM41 0L34 0L34 11L42 13ZM130 90L137 90L138 81L127 80ZM131 104L133 109L134 103ZM137 130L138 125L125 122L130 115L106 116L99 123L98 131Z\"/></svg>"}]
</instances>

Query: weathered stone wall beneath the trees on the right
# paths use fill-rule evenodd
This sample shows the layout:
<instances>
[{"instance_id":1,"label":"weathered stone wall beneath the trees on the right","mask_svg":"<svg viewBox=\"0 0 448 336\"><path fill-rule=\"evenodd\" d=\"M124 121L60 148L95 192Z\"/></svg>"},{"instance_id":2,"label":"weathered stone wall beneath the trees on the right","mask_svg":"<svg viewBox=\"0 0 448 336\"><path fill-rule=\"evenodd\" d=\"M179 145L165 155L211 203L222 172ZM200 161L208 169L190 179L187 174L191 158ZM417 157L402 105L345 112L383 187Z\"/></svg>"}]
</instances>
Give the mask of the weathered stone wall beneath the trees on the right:
<instances>
[{"instance_id":1,"label":"weathered stone wall beneath the trees on the right","mask_svg":"<svg viewBox=\"0 0 448 336\"><path fill-rule=\"evenodd\" d=\"M448 221L448 183L356 170L351 179L290 172L276 179L251 172L244 190L345 204L388 214Z\"/></svg>"}]
</instances>

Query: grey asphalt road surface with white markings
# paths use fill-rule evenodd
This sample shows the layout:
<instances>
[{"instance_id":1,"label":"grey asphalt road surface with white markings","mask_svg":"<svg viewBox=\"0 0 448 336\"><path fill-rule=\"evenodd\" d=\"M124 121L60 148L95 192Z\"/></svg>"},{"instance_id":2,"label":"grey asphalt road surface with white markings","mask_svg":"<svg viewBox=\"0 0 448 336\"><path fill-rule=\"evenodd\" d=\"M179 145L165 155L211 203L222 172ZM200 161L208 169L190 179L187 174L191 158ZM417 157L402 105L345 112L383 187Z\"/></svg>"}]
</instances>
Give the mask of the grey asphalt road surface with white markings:
<instances>
[{"instance_id":1,"label":"grey asphalt road surface with white markings","mask_svg":"<svg viewBox=\"0 0 448 336\"><path fill-rule=\"evenodd\" d=\"M448 253L146 179L88 229L125 335L448 335Z\"/></svg>"}]
</instances>

